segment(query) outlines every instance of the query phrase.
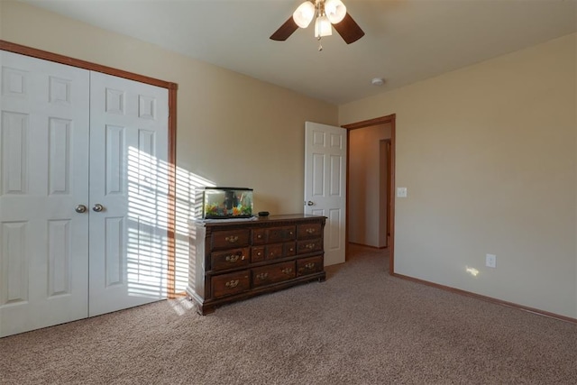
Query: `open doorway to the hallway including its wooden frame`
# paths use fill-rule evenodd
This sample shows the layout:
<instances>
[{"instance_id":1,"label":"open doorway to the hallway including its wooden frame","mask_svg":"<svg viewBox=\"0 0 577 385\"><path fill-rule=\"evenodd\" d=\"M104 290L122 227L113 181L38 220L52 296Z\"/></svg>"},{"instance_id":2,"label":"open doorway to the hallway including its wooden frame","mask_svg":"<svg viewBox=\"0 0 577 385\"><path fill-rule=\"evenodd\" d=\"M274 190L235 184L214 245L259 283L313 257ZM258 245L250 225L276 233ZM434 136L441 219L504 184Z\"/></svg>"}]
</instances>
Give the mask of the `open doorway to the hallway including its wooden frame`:
<instances>
[{"instance_id":1,"label":"open doorway to the hallway including its wooden frame","mask_svg":"<svg viewBox=\"0 0 577 385\"><path fill-rule=\"evenodd\" d=\"M346 124L343 128L347 130L346 244L386 247L392 275L395 115Z\"/></svg>"}]
</instances>

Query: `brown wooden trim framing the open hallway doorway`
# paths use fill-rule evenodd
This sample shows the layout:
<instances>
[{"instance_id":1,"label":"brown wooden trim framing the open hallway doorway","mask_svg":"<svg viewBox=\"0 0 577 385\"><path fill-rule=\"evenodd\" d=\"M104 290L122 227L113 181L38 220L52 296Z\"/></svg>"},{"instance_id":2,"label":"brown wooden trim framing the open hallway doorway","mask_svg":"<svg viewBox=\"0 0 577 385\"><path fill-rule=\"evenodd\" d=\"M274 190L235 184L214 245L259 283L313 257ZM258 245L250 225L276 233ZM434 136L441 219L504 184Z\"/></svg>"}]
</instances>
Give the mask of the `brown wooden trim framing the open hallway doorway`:
<instances>
[{"instance_id":1,"label":"brown wooden trim framing the open hallway doorway","mask_svg":"<svg viewBox=\"0 0 577 385\"><path fill-rule=\"evenodd\" d=\"M341 127L346 129L346 225L345 225L345 243L349 244L349 158L351 155L350 149L350 134L351 130L357 130L359 128L371 127L372 125L379 124L390 124L390 186L389 186L389 196L390 196L390 210L389 210L389 221L390 221L390 244L389 244L389 274L395 275L395 120L396 114L380 116L374 119L364 120L362 122L357 122L353 124L344 124Z\"/></svg>"}]
</instances>

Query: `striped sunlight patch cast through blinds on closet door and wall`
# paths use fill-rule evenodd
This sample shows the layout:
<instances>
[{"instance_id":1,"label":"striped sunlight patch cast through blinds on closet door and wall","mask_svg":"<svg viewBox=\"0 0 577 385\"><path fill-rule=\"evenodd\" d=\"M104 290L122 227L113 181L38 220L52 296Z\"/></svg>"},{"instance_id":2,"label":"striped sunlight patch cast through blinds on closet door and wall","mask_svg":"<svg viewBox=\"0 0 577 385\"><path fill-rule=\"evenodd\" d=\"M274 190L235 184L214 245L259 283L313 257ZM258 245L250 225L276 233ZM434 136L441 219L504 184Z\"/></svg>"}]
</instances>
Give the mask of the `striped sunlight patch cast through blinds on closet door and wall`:
<instances>
[{"instance_id":1,"label":"striped sunlight patch cast through blinds on closet door and wall","mask_svg":"<svg viewBox=\"0 0 577 385\"><path fill-rule=\"evenodd\" d=\"M129 294L165 298L169 280L168 220L171 168L166 161L130 147L127 170L126 275ZM176 293L181 293L188 285L190 236L188 223L194 215L195 189L214 187L215 183L181 168L176 168L175 179L174 287Z\"/></svg>"}]
</instances>

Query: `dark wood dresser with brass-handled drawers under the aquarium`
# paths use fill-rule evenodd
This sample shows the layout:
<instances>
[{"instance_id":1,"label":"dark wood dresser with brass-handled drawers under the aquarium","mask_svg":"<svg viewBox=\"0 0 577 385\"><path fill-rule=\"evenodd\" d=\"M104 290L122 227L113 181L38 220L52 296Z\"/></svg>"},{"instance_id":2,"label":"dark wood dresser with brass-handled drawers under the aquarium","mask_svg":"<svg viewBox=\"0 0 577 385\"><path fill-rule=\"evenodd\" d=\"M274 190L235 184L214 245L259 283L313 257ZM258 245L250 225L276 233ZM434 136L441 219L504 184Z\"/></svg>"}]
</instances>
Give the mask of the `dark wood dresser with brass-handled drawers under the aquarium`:
<instances>
[{"instance_id":1,"label":"dark wood dresser with brass-handled drawers under the aquarium","mask_svg":"<svg viewBox=\"0 0 577 385\"><path fill-rule=\"evenodd\" d=\"M187 294L202 315L225 303L325 280L325 216L194 221Z\"/></svg>"}]
</instances>

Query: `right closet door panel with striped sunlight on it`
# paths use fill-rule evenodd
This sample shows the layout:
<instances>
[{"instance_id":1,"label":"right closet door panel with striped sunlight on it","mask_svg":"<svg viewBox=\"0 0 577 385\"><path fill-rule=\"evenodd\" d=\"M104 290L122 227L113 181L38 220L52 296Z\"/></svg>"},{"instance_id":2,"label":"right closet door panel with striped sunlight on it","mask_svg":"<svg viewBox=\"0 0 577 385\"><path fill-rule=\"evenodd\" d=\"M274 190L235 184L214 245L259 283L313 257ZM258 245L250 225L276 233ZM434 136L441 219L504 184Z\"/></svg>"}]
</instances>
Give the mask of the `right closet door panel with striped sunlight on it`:
<instances>
[{"instance_id":1,"label":"right closet door panel with striped sunlight on it","mask_svg":"<svg viewBox=\"0 0 577 385\"><path fill-rule=\"evenodd\" d=\"M167 297L168 90L91 73L89 315ZM100 206L98 206L100 205Z\"/></svg>"}]
</instances>

